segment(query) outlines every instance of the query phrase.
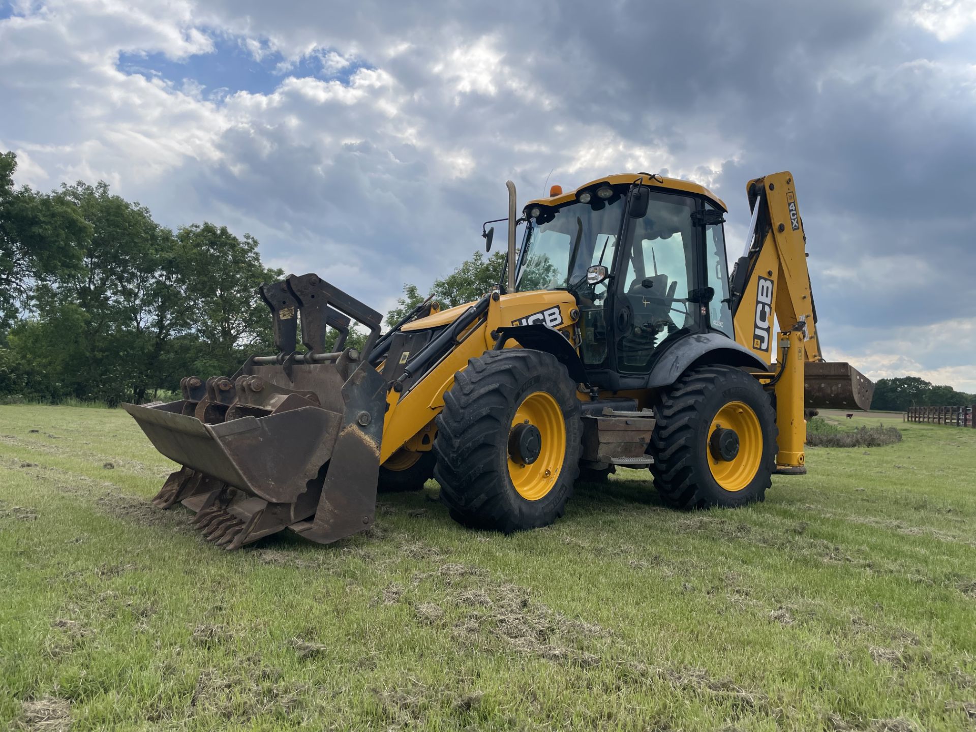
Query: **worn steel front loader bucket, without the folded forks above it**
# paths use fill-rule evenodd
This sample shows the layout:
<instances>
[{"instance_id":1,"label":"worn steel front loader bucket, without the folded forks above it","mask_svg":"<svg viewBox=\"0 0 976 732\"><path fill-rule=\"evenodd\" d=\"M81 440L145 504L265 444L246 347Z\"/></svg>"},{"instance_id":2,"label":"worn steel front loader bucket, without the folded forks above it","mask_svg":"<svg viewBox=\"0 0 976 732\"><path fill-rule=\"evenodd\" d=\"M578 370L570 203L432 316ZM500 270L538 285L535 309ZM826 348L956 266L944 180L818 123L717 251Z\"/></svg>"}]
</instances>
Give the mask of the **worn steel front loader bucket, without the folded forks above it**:
<instances>
[{"instance_id":1,"label":"worn steel front loader bucket, without the folded forks above it","mask_svg":"<svg viewBox=\"0 0 976 732\"><path fill-rule=\"evenodd\" d=\"M193 509L193 524L226 549L285 528L323 544L368 528L386 406L382 377L368 364L345 383L341 367L329 363L292 365L290 377L276 364L250 370L234 382L224 422L190 416L209 414L206 398L203 409L189 400L124 405L155 448L182 466L153 503ZM281 386L293 382L319 388ZM340 393L329 398L329 386ZM219 396L216 387L212 395Z\"/></svg>"}]
</instances>

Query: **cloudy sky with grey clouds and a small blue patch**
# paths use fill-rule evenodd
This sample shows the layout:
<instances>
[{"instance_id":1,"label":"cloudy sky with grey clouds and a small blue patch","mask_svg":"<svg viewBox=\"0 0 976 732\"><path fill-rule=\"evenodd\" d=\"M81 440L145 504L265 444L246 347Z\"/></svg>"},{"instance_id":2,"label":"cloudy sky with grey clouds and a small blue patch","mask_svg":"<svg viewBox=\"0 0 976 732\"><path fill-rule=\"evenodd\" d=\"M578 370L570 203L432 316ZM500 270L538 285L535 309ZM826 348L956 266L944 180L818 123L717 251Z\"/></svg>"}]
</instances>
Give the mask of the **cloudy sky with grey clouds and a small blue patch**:
<instances>
[{"instance_id":1,"label":"cloudy sky with grey clouds and a small blue patch","mask_svg":"<svg viewBox=\"0 0 976 732\"><path fill-rule=\"evenodd\" d=\"M386 311L547 181L793 172L825 355L976 391L976 0L0 0L17 182L103 180Z\"/></svg>"}]
</instances>

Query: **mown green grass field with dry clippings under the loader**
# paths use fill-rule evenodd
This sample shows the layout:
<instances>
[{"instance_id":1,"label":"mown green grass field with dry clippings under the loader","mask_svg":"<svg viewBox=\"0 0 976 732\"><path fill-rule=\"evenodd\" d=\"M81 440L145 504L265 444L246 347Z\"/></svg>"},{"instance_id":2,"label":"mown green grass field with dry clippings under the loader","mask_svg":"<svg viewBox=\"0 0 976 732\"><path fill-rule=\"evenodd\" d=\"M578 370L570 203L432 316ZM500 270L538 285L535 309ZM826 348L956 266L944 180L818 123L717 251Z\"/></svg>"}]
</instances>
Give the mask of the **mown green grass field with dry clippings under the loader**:
<instances>
[{"instance_id":1,"label":"mown green grass field with dry clippings under the loader","mask_svg":"<svg viewBox=\"0 0 976 732\"><path fill-rule=\"evenodd\" d=\"M225 552L124 412L0 407L0 727L973 729L976 429L885 424L746 509L625 470L505 537L429 483Z\"/></svg>"}]
</instances>

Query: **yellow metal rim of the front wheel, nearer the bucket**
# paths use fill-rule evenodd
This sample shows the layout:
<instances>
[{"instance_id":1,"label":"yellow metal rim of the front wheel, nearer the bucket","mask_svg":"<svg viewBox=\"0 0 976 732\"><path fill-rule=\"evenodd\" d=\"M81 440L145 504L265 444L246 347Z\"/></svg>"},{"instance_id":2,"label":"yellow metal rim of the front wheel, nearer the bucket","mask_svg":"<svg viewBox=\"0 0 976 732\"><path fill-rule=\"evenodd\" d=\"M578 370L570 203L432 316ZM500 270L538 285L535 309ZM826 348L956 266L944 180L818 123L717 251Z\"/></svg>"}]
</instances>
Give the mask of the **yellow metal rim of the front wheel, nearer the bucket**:
<instances>
[{"instance_id":1,"label":"yellow metal rim of the front wheel, nearer the bucket","mask_svg":"<svg viewBox=\"0 0 976 732\"><path fill-rule=\"evenodd\" d=\"M508 453L508 477L518 495L538 501L549 494L559 479L566 457L566 423L556 400L545 391L534 391L518 405L511 427L532 425L539 430L541 446L534 463L512 460Z\"/></svg>"}]
</instances>

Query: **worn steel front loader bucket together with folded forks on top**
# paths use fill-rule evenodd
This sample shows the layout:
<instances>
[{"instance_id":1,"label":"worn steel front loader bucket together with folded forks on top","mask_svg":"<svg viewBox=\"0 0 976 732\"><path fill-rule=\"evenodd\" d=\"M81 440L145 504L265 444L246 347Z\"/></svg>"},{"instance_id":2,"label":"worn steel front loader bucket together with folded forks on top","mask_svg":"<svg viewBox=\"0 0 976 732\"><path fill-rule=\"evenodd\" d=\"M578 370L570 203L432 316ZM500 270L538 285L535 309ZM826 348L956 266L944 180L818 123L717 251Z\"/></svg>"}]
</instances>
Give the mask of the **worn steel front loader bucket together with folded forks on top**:
<instances>
[{"instance_id":1,"label":"worn steel front loader bucket together with folded forks on top","mask_svg":"<svg viewBox=\"0 0 976 732\"><path fill-rule=\"evenodd\" d=\"M152 503L196 511L193 524L226 549L286 528L335 542L376 510L386 382L368 358L382 316L314 274L262 285L261 297L277 355L251 356L233 378L185 377L180 401L123 405L181 466ZM341 350L352 320L368 333L362 353Z\"/></svg>"}]
</instances>

